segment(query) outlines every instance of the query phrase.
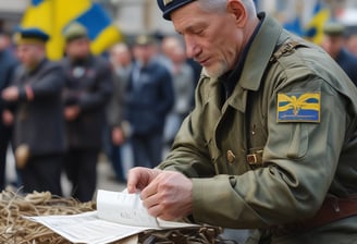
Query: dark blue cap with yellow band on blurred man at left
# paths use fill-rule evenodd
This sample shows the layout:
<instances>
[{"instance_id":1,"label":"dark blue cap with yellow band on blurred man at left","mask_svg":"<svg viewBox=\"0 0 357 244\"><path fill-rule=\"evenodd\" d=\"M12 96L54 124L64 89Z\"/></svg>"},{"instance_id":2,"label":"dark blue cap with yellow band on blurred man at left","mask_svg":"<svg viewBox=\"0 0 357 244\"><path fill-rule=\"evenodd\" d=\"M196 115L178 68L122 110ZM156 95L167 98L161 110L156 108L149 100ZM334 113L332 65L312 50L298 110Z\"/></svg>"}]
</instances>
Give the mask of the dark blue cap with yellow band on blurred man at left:
<instances>
[{"instance_id":1,"label":"dark blue cap with yellow band on blurred man at left","mask_svg":"<svg viewBox=\"0 0 357 244\"><path fill-rule=\"evenodd\" d=\"M46 34L44 30L36 28L36 27L19 27L15 29L15 42L46 42L49 40L50 36Z\"/></svg>"}]
</instances>

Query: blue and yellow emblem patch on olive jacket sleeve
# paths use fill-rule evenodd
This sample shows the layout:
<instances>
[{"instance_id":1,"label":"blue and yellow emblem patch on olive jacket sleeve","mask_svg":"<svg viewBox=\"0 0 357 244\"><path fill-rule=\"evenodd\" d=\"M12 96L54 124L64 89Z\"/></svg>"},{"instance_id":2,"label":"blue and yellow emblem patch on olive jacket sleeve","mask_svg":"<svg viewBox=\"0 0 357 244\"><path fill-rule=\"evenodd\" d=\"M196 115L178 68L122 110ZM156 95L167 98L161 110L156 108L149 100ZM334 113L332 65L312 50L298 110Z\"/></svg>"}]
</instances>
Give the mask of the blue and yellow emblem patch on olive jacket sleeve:
<instances>
[{"instance_id":1,"label":"blue and yellow emblem patch on olive jacket sleeve","mask_svg":"<svg viewBox=\"0 0 357 244\"><path fill-rule=\"evenodd\" d=\"M278 94L278 122L320 122L320 93Z\"/></svg>"}]
</instances>

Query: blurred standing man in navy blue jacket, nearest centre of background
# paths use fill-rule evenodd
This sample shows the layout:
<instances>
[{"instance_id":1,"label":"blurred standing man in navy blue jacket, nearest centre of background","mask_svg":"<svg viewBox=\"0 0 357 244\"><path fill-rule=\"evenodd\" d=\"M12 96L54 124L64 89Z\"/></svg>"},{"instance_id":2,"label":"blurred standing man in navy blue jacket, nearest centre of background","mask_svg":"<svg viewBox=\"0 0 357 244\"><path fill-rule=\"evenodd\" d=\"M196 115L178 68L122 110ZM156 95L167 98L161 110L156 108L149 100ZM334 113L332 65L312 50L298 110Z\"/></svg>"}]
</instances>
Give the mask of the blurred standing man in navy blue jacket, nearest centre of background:
<instances>
[{"instance_id":1,"label":"blurred standing man in navy blue jacket, nearest centre of background","mask_svg":"<svg viewBox=\"0 0 357 244\"><path fill-rule=\"evenodd\" d=\"M156 45L149 35L135 39L135 62L125 91L134 164L150 168L162 159L164 121L174 103L172 76L156 59Z\"/></svg>"}]
</instances>

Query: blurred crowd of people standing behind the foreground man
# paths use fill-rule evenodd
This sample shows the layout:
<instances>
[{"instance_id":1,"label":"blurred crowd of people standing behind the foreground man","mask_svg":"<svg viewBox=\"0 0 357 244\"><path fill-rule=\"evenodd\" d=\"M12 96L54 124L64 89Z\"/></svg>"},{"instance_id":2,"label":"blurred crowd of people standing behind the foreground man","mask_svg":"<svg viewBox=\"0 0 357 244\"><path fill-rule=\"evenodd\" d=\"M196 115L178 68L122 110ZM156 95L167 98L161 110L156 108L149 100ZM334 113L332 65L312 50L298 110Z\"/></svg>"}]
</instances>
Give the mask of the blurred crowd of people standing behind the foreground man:
<instances>
[{"instance_id":1,"label":"blurred crowd of people standing behind the foreground man","mask_svg":"<svg viewBox=\"0 0 357 244\"><path fill-rule=\"evenodd\" d=\"M63 36L65 54L54 62L46 58L49 36L40 29L0 33L0 190L10 183L10 148L14 186L61 196L65 174L71 196L87 202L100 154L122 183L123 146L131 148L131 167L153 168L162 160L193 109L201 68L186 58L175 35L138 35L100 57L90 52L81 24L67 26ZM321 47L357 84L357 32L329 23Z\"/></svg>"}]
</instances>

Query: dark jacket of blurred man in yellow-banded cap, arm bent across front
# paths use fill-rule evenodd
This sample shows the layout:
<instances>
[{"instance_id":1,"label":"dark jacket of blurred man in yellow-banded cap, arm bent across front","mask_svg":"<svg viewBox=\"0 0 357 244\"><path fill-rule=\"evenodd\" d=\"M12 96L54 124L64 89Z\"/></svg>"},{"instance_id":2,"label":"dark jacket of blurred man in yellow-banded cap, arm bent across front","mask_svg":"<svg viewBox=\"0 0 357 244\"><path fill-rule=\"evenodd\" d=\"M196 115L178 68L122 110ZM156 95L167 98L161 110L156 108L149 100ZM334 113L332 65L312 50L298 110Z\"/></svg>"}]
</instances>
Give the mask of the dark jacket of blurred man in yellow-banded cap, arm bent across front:
<instances>
[{"instance_id":1,"label":"dark jacket of blurred man in yellow-banded cap, arm bent across front","mask_svg":"<svg viewBox=\"0 0 357 244\"><path fill-rule=\"evenodd\" d=\"M47 60L30 73L22 66L16 70L11 84L20 88L13 135L15 148L28 145L32 156L64 152L63 82L61 66ZM27 99L26 86L33 90L33 100Z\"/></svg>"}]
</instances>

